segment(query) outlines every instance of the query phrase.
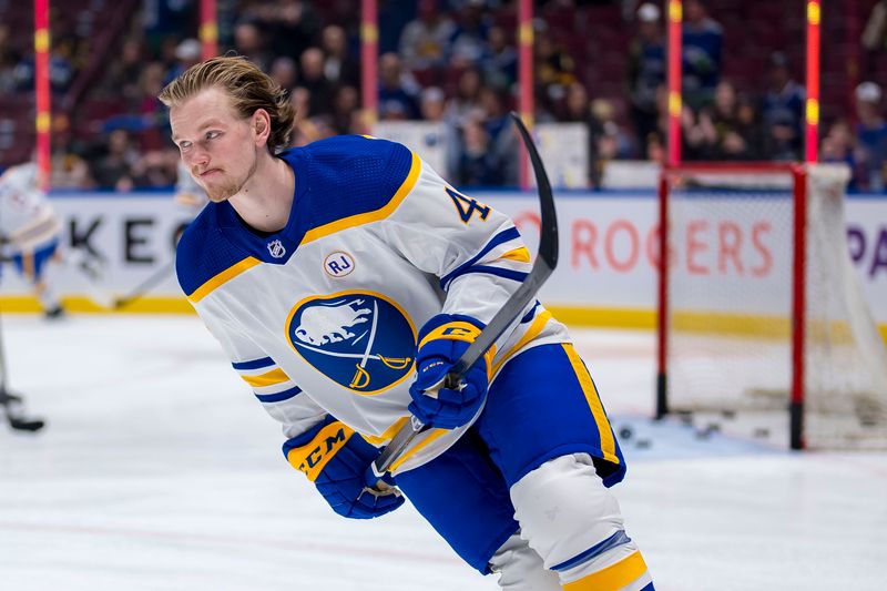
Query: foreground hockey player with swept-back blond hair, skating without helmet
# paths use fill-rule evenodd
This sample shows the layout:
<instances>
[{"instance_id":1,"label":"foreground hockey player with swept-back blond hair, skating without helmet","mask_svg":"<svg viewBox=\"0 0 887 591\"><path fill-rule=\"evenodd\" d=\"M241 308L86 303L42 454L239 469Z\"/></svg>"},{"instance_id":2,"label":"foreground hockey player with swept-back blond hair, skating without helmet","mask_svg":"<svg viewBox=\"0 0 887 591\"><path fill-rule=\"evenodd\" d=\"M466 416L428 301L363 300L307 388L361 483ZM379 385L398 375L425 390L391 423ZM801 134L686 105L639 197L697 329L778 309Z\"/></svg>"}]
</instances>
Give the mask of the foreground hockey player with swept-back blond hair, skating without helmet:
<instances>
[{"instance_id":1,"label":"foreground hockey player with swept-back blond hair, skating without helmet","mask_svg":"<svg viewBox=\"0 0 887 591\"><path fill-rule=\"evenodd\" d=\"M458 390L426 394L530 268L511 222L400 144L287 149L289 103L244 59L196 64L160 98L211 200L179 281L333 510L404 502L369 467L412 414L431 429L392 481L471 567L508 590L651 591L608 490L625 461L548 310L528 306Z\"/></svg>"}]
</instances>

